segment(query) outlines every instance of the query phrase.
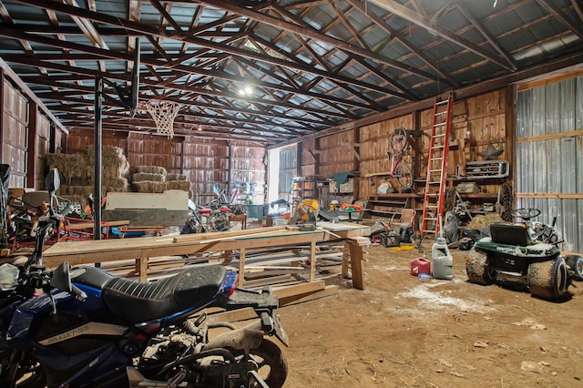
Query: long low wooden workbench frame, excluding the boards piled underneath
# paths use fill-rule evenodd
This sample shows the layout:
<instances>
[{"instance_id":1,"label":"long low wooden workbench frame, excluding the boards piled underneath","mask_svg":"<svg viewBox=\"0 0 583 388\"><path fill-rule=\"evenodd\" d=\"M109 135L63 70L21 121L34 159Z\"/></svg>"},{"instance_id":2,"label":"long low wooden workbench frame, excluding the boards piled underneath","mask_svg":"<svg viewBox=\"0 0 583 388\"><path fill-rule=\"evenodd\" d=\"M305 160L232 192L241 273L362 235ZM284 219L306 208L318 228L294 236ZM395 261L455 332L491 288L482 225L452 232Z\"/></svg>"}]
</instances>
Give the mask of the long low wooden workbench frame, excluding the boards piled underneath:
<instances>
[{"instance_id":1,"label":"long low wooden workbench frame, excluding the boards piled underneath","mask_svg":"<svg viewBox=\"0 0 583 388\"><path fill-rule=\"evenodd\" d=\"M360 236L370 233L362 225L341 224L318 225L317 230L300 231L285 226L256 230L235 230L213 233L186 234L180 236L140 237L119 240L88 240L57 242L46 249L45 265L56 267L62 261L70 265L93 264L117 260L136 260L136 271L141 281L148 280L148 259L163 256L180 256L208 251L240 251L240 284L242 284L245 254L247 250L310 245L310 281L314 281L316 242L323 240L345 240L351 252L353 286L363 290L363 253Z\"/></svg>"}]
</instances>

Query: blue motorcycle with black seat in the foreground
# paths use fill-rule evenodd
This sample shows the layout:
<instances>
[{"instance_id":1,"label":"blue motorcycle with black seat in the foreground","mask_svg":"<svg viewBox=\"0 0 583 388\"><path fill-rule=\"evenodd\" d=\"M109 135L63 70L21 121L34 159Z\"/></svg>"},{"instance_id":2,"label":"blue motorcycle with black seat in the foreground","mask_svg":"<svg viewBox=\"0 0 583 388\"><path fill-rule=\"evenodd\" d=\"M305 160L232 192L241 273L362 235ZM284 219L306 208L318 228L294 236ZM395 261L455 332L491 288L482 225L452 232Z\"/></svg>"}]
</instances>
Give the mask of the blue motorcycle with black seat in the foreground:
<instances>
[{"instance_id":1,"label":"blue motorcycle with black seat in the foreground","mask_svg":"<svg viewBox=\"0 0 583 388\"><path fill-rule=\"evenodd\" d=\"M58 185L53 169L51 204ZM283 385L287 363L270 337L286 346L288 337L270 291L238 289L237 273L220 266L150 282L67 262L46 270L43 246L63 218L49 214L32 255L0 266L0 387ZM213 323L210 307L252 307L259 319Z\"/></svg>"}]
</instances>

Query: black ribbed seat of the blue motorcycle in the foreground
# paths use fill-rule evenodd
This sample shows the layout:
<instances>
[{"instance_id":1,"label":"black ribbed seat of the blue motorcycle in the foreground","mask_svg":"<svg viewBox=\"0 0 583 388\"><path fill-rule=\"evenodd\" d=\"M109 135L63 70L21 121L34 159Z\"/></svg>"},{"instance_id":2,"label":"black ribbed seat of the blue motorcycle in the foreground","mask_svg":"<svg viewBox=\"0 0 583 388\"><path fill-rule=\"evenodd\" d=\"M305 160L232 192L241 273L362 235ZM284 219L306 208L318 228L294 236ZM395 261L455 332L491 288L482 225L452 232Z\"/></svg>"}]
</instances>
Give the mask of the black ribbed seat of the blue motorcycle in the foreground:
<instances>
[{"instance_id":1,"label":"black ribbed seat of the blue motorcycle in the foreground","mask_svg":"<svg viewBox=\"0 0 583 388\"><path fill-rule=\"evenodd\" d=\"M129 322L153 321L208 304L226 273L224 267L209 266L160 281L112 278L103 287L102 298L110 311Z\"/></svg>"}]
</instances>

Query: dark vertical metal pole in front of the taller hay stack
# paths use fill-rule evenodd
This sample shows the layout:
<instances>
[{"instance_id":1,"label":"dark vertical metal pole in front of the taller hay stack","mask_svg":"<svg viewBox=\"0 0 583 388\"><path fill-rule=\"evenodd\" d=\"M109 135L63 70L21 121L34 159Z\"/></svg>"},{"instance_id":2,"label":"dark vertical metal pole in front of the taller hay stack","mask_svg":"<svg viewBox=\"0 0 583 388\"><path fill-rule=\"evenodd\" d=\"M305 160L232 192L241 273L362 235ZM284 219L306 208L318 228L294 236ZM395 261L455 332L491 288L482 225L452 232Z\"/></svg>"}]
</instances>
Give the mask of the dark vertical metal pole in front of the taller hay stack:
<instances>
[{"instance_id":1,"label":"dark vertical metal pole in front of the taller hay stack","mask_svg":"<svg viewBox=\"0 0 583 388\"><path fill-rule=\"evenodd\" d=\"M101 240L101 146L103 79L95 77L95 169L93 171L93 240Z\"/></svg>"}]
</instances>

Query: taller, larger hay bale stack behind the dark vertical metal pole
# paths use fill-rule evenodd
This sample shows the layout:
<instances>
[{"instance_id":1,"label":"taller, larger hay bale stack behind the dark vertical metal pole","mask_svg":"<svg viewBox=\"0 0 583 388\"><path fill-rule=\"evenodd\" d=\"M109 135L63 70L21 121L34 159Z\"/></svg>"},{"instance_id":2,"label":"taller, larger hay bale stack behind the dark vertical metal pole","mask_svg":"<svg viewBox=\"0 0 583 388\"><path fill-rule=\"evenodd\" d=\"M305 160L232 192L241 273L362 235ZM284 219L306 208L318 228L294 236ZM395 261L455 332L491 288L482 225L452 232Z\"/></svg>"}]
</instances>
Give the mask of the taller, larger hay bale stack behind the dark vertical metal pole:
<instances>
[{"instance_id":1,"label":"taller, larger hay bale stack behind the dark vertical metal pole","mask_svg":"<svg viewBox=\"0 0 583 388\"><path fill-rule=\"evenodd\" d=\"M102 155L101 183L103 193L128 191L128 159L118 147L104 146ZM85 154L47 154L48 168L58 168L61 186L56 192L81 206L87 205L87 198L94 190L95 148L87 147Z\"/></svg>"}]
</instances>

